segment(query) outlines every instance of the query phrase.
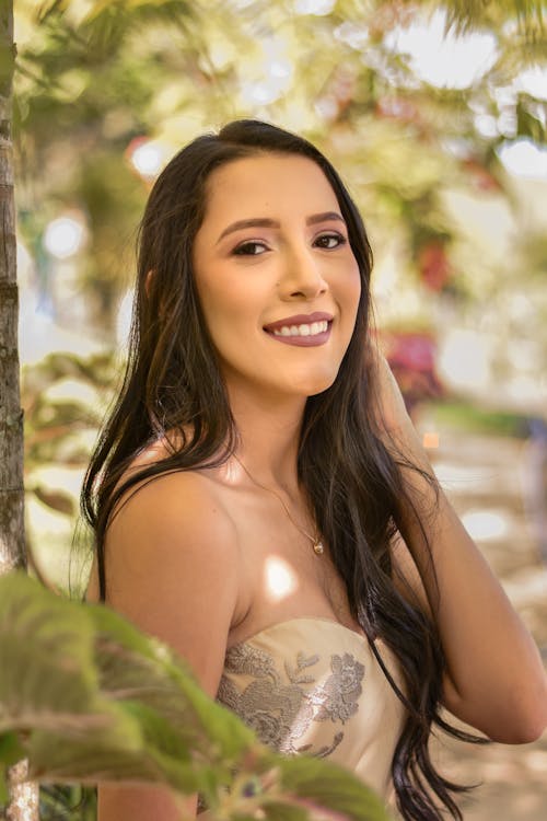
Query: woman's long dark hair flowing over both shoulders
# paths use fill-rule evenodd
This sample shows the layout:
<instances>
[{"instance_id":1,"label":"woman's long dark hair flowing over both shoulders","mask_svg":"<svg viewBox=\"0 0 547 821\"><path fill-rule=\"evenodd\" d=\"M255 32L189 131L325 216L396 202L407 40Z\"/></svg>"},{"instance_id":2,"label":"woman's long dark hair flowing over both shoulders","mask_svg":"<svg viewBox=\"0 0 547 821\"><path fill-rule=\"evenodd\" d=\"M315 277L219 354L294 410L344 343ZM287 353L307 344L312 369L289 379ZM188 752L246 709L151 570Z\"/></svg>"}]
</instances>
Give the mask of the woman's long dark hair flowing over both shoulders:
<instances>
[{"instance_id":1,"label":"woman's long dark hair flowing over both shoulders","mask_svg":"<svg viewBox=\"0 0 547 821\"><path fill-rule=\"evenodd\" d=\"M191 252L211 172L261 152L298 154L315 162L330 183L348 227L361 275L357 322L335 382L306 402L299 479L345 581L351 611L406 706L392 764L399 810L405 819L439 821L437 805L441 805L452 818L461 819L451 793L465 788L435 771L428 741L433 724L458 738L473 737L441 718L445 662L437 626L393 581L389 545L397 530L405 535L401 500L410 508L411 500L403 477L404 458L394 456L383 444L373 409L371 247L359 211L333 165L310 142L275 126L238 120L218 135L198 137L173 158L150 194L139 233L125 381L82 492L83 513L96 540L101 598L106 598L105 533L121 497L130 488L135 493L137 483L171 471L221 464L234 450L237 431L197 297ZM165 440L170 431L177 436L168 437L173 443L168 455L127 477L137 453ZM383 664L374 645L377 637L400 662L404 693Z\"/></svg>"}]
</instances>

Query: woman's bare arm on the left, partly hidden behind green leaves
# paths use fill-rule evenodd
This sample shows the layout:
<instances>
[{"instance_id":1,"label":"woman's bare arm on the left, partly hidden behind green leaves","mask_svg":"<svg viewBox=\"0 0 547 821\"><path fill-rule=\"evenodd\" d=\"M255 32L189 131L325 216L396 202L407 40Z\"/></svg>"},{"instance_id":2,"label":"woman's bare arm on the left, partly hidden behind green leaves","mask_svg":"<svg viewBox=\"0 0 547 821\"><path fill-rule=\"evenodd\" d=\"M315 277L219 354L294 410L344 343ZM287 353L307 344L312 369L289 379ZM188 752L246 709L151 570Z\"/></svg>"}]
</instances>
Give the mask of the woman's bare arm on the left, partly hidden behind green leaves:
<instances>
[{"instance_id":1,"label":"woman's bare arm on the left, partly hidden behind green leaves","mask_svg":"<svg viewBox=\"0 0 547 821\"><path fill-rule=\"evenodd\" d=\"M237 613L235 530L190 473L162 476L119 509L106 542L107 603L146 633L166 641L214 696L231 623ZM94 597L93 581L90 599ZM98 821L179 821L195 799L175 800L158 787L103 785Z\"/></svg>"}]
</instances>

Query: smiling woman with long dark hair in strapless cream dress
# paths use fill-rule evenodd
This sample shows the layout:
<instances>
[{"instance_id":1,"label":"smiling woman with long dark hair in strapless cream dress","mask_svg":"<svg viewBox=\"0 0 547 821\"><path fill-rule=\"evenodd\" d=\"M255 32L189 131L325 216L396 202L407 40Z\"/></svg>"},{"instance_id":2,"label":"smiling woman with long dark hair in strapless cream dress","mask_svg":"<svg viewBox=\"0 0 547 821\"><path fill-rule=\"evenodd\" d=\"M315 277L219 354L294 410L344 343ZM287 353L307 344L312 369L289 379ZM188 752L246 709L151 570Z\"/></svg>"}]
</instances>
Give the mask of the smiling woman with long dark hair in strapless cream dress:
<instances>
[{"instance_id":1,"label":"smiling woman with long dark hair in strapless cream dress","mask_svg":"<svg viewBox=\"0 0 547 821\"><path fill-rule=\"evenodd\" d=\"M395 787L405 819L461 818L428 754L439 710L526 742L546 680L373 352L371 251L339 176L305 140L232 123L165 167L139 252L83 493L90 598L266 742ZM101 821L176 817L166 790L100 790Z\"/></svg>"}]
</instances>

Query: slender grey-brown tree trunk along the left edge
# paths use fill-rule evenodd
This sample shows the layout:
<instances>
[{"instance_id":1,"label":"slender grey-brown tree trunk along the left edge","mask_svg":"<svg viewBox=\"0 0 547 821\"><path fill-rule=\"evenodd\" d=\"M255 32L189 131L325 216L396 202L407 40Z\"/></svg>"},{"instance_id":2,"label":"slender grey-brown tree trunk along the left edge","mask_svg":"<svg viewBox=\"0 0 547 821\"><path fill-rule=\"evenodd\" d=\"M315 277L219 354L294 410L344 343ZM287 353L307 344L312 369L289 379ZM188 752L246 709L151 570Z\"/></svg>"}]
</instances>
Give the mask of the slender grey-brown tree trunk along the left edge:
<instances>
[{"instance_id":1,"label":"slender grey-brown tree trunk along the left edge","mask_svg":"<svg viewBox=\"0 0 547 821\"><path fill-rule=\"evenodd\" d=\"M23 412L19 386L18 281L11 90L13 0L0 0L0 574L25 567ZM25 761L10 771L9 821L37 821L38 789ZM0 810L1 811L1 810Z\"/></svg>"}]
</instances>

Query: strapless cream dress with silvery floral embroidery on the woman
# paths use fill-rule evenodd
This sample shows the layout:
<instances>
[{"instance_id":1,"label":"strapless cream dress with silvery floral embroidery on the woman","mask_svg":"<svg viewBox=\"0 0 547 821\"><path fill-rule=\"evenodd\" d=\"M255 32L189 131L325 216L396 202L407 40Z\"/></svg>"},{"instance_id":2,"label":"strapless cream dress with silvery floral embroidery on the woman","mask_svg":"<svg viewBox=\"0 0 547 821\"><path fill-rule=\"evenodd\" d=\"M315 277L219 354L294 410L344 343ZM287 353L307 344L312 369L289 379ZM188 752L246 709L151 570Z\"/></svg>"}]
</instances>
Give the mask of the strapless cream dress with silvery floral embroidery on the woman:
<instances>
[{"instance_id":1,"label":"strapless cream dress with silvery floral embroidery on the woman","mask_svg":"<svg viewBox=\"0 0 547 821\"><path fill-rule=\"evenodd\" d=\"M395 656L375 646L400 686ZM328 618L274 624L229 649L217 697L279 752L335 761L389 797L405 709L364 636Z\"/></svg>"}]
</instances>

